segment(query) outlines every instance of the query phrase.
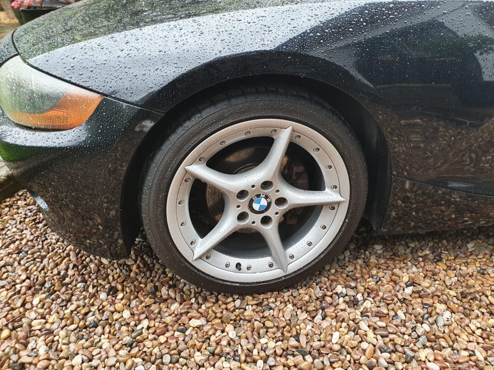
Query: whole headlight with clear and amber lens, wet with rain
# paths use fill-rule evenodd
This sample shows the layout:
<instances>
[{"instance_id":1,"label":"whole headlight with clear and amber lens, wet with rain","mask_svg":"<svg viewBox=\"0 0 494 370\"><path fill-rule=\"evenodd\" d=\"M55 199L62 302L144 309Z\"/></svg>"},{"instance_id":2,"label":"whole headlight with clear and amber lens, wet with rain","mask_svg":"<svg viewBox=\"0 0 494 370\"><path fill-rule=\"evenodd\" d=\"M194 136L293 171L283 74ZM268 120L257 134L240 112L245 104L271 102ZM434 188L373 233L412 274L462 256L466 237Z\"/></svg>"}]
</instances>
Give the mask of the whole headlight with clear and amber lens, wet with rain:
<instances>
[{"instance_id":1,"label":"whole headlight with clear and amber lens, wet with rain","mask_svg":"<svg viewBox=\"0 0 494 370\"><path fill-rule=\"evenodd\" d=\"M19 56L0 68L0 107L23 126L59 130L77 127L102 98L28 66Z\"/></svg>"}]
</instances>

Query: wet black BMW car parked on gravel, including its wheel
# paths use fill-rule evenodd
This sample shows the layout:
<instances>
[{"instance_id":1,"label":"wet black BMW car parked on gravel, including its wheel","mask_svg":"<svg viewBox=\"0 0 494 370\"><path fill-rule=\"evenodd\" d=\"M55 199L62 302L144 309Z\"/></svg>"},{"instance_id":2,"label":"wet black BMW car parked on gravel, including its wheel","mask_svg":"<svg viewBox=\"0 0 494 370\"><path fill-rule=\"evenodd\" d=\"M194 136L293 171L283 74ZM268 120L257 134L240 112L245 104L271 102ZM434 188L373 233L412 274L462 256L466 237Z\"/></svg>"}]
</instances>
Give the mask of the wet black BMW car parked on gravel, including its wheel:
<instances>
[{"instance_id":1,"label":"wet black BMW car parked on gravel, including its wheel","mask_svg":"<svg viewBox=\"0 0 494 370\"><path fill-rule=\"evenodd\" d=\"M279 289L365 216L494 220L494 2L84 0L0 41L0 155L81 249L141 227L208 290Z\"/></svg>"}]
</instances>

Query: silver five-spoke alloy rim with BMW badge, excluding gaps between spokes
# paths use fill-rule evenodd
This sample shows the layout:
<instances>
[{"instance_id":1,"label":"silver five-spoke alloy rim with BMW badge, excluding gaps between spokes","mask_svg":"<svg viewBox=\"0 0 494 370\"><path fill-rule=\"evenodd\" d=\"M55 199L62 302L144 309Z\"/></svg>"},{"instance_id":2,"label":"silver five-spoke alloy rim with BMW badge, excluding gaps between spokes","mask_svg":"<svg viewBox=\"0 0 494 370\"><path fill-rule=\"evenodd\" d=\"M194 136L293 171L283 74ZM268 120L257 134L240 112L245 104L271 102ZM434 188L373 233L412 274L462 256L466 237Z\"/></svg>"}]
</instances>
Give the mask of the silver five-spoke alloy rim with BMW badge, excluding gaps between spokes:
<instances>
[{"instance_id":1,"label":"silver five-spoke alloy rim with BMW badge, excluding gaps between spokes","mask_svg":"<svg viewBox=\"0 0 494 370\"><path fill-rule=\"evenodd\" d=\"M221 149L252 137L274 139L267 157L255 168L231 175L206 165ZM319 166L320 191L296 188L283 178L280 168L290 143L305 149ZM220 221L204 237L189 212L195 179L221 190L224 199ZM297 122L254 119L209 136L185 158L170 185L166 219L176 247L197 269L225 281L254 283L281 278L316 259L340 230L349 198L343 159L324 136ZM282 241L278 225L283 215L307 206L316 207L304 225ZM217 248L247 226L263 236L268 254L235 255Z\"/></svg>"}]
</instances>

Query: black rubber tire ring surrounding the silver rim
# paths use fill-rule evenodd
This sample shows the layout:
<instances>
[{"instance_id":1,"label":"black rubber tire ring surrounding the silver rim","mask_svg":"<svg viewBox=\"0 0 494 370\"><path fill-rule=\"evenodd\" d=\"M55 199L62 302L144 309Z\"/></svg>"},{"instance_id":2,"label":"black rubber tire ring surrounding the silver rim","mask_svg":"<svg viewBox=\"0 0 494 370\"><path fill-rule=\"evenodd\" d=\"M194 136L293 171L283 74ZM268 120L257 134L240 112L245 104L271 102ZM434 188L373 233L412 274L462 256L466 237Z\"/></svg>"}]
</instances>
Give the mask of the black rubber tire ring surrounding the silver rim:
<instances>
[{"instance_id":1,"label":"black rubber tire ring surrounding the silver rim","mask_svg":"<svg viewBox=\"0 0 494 370\"><path fill-rule=\"evenodd\" d=\"M307 102L309 103L309 102ZM313 102L310 102L313 103ZM296 99L230 99L223 106L209 105L178 124L163 137L151 157L141 185L141 215L146 235L159 258L181 278L204 289L223 293L276 290L294 284L323 268L345 246L362 216L367 195L367 170L362 148L344 120L329 106L301 104ZM270 112L266 114L266 112ZM350 199L345 220L329 246L303 268L278 279L258 283L232 283L198 270L175 247L166 220L166 200L171 181L186 156L207 137L232 124L257 118L282 118L302 123L322 134L338 150L350 179ZM330 256L328 256L330 255Z\"/></svg>"}]
</instances>

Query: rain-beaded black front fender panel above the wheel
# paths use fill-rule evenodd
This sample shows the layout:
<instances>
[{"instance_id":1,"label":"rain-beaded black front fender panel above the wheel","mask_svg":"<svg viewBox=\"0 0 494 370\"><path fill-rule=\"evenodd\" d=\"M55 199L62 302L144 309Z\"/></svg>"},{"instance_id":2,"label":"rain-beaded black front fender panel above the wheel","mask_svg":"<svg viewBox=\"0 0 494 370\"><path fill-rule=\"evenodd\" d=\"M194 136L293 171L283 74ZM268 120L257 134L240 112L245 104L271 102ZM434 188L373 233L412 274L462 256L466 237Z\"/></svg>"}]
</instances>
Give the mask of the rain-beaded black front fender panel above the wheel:
<instances>
[{"instance_id":1,"label":"rain-beaded black front fender panel above the wheel","mask_svg":"<svg viewBox=\"0 0 494 370\"><path fill-rule=\"evenodd\" d=\"M222 11L242 4L220 3ZM96 28L94 36L106 36L76 43L77 37L68 42L65 34L55 35L50 40L68 45L21 55L50 74L163 112L234 77L290 74L322 80L371 113L390 148L394 175L463 184L459 190L466 182L469 191L494 193L494 171L485 170L494 154L492 2L348 1L269 8L246 2L247 10L227 14L203 13L199 9L210 2L200 4L198 13L205 14L200 17L182 12L182 5L155 9L163 11L165 23L148 19L153 25L133 28L145 21L123 17L119 27L125 32L106 35ZM117 11L117 5L108 6ZM46 22L53 23L51 17ZM36 25L33 31L16 31L21 50Z\"/></svg>"}]
</instances>

